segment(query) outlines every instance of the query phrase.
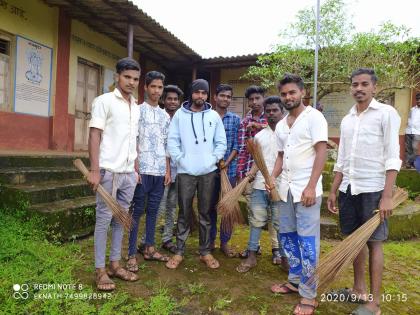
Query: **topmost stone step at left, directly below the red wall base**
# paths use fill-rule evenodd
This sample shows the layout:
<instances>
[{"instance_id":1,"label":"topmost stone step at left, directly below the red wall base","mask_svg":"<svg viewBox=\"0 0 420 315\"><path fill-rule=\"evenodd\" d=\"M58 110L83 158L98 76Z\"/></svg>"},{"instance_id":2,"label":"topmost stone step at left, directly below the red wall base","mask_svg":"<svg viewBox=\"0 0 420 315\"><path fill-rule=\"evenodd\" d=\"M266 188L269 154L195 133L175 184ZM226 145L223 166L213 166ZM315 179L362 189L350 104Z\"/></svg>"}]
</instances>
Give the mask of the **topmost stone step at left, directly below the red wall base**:
<instances>
[{"instance_id":1,"label":"topmost stone step at left, directly below the red wall base","mask_svg":"<svg viewBox=\"0 0 420 315\"><path fill-rule=\"evenodd\" d=\"M0 155L0 169L18 167L71 167L76 158L88 165L89 159L77 156Z\"/></svg>"}]
</instances>

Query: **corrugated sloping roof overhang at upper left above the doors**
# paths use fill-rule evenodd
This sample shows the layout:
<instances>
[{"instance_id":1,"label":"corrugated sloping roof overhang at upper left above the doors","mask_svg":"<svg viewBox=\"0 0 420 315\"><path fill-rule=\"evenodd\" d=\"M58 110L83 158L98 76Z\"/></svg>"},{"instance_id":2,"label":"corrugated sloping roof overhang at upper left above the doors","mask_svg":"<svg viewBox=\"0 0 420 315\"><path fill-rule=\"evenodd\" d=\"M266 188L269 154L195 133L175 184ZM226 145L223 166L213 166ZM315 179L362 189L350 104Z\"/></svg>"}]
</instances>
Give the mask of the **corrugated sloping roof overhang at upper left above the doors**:
<instances>
[{"instance_id":1,"label":"corrugated sloping roof overhang at upper left above the doors","mask_svg":"<svg viewBox=\"0 0 420 315\"><path fill-rule=\"evenodd\" d=\"M128 0L44 0L61 7L79 20L122 46L127 45L127 27L134 27L134 50L168 69L202 60L201 56Z\"/></svg>"}]
</instances>

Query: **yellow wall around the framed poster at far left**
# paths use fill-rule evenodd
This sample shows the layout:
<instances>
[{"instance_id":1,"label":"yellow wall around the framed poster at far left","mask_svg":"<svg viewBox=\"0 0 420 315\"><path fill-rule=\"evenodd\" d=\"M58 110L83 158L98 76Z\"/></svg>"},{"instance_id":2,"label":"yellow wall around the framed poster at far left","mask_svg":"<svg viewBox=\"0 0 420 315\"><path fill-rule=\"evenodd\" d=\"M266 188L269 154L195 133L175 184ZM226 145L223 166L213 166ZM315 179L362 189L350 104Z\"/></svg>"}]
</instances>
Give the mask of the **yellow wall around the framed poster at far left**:
<instances>
[{"instance_id":1,"label":"yellow wall around the framed poster at far left","mask_svg":"<svg viewBox=\"0 0 420 315\"><path fill-rule=\"evenodd\" d=\"M18 10L16 10L18 8ZM57 69L57 42L58 42L58 9L49 7L41 0L3 0L0 5L0 30L12 35L20 35L32 41L53 49L52 78L51 78L51 102L50 114L54 113L55 80ZM10 106L12 108L14 95L14 65L16 42L12 42L11 59L11 95Z\"/></svg>"}]
</instances>

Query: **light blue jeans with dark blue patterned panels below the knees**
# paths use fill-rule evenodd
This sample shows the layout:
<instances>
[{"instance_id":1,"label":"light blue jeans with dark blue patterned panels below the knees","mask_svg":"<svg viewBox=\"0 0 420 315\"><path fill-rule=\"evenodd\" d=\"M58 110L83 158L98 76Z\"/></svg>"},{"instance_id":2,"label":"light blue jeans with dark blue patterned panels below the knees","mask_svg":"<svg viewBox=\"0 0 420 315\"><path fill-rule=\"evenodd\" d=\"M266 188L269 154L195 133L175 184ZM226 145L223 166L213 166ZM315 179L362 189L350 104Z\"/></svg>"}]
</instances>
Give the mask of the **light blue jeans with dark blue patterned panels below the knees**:
<instances>
[{"instance_id":1,"label":"light blue jeans with dark blue patterned panels below the knees","mask_svg":"<svg viewBox=\"0 0 420 315\"><path fill-rule=\"evenodd\" d=\"M316 203L305 207L294 202L290 190L287 202L280 201L279 241L289 261L291 283L299 285L299 294L308 299L316 297L316 285L306 282L314 274L319 259L320 209L322 197Z\"/></svg>"}]
</instances>

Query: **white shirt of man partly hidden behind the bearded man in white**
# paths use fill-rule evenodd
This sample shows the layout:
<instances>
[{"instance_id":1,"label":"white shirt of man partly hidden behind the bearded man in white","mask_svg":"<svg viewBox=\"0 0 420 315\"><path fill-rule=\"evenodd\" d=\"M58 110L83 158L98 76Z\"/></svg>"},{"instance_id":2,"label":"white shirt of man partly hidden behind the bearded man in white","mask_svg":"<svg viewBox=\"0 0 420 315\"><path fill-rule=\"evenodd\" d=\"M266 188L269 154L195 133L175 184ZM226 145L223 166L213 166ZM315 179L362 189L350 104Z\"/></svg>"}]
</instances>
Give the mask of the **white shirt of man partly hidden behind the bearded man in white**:
<instances>
[{"instance_id":1,"label":"white shirt of man partly hidden behind the bearded man in white","mask_svg":"<svg viewBox=\"0 0 420 315\"><path fill-rule=\"evenodd\" d=\"M257 141L261 146L265 164L267 165L268 172L271 174L273 172L278 153L276 145L276 132L271 129L270 126L267 126L255 135L255 141ZM280 179L277 179L277 189L279 189L279 184ZM260 171L258 171L257 175L255 176L255 180L252 183L252 188L265 190L265 180Z\"/></svg>"}]
</instances>

